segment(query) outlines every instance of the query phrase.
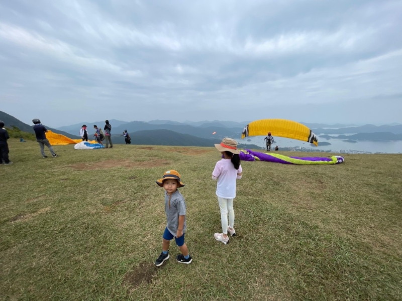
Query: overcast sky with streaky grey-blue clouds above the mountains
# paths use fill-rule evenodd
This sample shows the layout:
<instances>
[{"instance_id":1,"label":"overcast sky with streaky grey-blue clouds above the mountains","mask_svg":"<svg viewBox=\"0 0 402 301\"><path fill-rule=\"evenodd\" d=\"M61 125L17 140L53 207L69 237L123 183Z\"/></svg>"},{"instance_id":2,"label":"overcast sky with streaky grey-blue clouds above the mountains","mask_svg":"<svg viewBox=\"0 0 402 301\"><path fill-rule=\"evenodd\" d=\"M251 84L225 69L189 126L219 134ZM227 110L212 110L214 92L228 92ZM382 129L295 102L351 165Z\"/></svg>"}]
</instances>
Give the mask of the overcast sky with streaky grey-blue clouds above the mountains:
<instances>
[{"instance_id":1,"label":"overcast sky with streaky grey-blue clouds above the mountains","mask_svg":"<svg viewBox=\"0 0 402 301\"><path fill-rule=\"evenodd\" d=\"M0 0L0 110L402 123L402 1Z\"/></svg>"}]
</instances>

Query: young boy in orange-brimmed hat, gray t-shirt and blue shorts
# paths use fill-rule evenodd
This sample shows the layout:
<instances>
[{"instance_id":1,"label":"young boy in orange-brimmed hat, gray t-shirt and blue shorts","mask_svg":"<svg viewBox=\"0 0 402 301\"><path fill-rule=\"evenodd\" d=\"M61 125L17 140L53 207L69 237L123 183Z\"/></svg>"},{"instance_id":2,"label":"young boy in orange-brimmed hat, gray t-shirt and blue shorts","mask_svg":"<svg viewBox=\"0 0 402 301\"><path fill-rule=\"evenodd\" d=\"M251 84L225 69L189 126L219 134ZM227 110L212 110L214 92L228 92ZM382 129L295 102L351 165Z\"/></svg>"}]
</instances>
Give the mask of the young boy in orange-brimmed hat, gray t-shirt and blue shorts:
<instances>
[{"instance_id":1,"label":"young boy in orange-brimmed hat, gray t-shirt and blue shorts","mask_svg":"<svg viewBox=\"0 0 402 301\"><path fill-rule=\"evenodd\" d=\"M180 174L174 170L167 171L163 174L162 179L156 181L156 184L165 189L167 225L162 236L162 253L156 259L155 265L161 266L169 258L169 244L173 238L181 252L176 256L176 260L180 263L191 263L191 256L188 254L187 245L184 243L186 206L183 196L177 190L177 188L184 186L180 182Z\"/></svg>"}]
</instances>

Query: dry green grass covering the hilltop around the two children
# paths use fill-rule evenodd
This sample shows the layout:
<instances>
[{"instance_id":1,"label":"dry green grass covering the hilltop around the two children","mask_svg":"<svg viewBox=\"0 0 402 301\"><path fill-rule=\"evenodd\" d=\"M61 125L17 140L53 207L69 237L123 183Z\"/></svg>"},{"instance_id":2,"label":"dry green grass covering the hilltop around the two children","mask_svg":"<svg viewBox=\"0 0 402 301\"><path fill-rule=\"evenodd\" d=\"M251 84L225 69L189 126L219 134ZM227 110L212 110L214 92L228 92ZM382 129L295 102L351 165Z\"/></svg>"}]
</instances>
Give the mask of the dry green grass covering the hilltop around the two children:
<instances>
[{"instance_id":1,"label":"dry green grass covering the hilltop around the two children","mask_svg":"<svg viewBox=\"0 0 402 301\"><path fill-rule=\"evenodd\" d=\"M336 166L242 162L238 236L224 245L213 237L214 147L66 145L42 159L36 142L9 146L0 299L402 299L401 155L345 155ZM177 263L172 242L155 268L166 225L155 181L168 169L186 185L193 262Z\"/></svg>"}]
</instances>

